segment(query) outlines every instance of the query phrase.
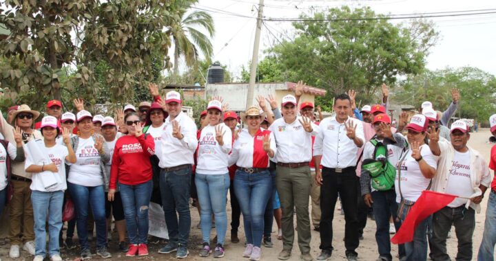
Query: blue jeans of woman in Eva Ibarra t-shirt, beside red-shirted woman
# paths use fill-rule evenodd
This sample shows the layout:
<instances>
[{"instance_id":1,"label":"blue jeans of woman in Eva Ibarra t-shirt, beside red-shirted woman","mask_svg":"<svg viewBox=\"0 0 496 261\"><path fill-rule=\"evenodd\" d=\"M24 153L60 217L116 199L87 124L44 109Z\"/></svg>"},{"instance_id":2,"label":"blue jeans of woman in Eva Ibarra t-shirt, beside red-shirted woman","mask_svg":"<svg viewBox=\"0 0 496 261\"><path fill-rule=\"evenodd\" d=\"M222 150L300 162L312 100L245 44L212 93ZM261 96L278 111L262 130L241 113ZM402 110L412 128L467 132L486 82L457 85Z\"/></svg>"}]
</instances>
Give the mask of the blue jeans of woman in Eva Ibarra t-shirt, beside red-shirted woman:
<instances>
[{"instance_id":1,"label":"blue jeans of woman in Eva Ibarra t-shirt, beside red-shirted woman","mask_svg":"<svg viewBox=\"0 0 496 261\"><path fill-rule=\"evenodd\" d=\"M76 207L76 228L81 251L90 249L87 240L88 204L96 223L96 247L101 249L107 245L107 220L105 219L105 192L103 185L87 187L68 182L68 189Z\"/></svg>"}]
</instances>

